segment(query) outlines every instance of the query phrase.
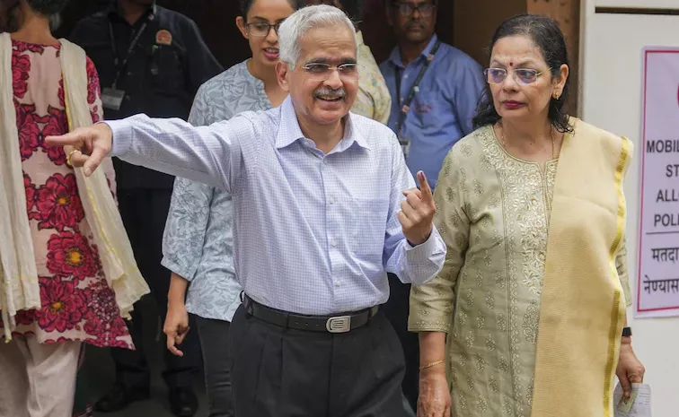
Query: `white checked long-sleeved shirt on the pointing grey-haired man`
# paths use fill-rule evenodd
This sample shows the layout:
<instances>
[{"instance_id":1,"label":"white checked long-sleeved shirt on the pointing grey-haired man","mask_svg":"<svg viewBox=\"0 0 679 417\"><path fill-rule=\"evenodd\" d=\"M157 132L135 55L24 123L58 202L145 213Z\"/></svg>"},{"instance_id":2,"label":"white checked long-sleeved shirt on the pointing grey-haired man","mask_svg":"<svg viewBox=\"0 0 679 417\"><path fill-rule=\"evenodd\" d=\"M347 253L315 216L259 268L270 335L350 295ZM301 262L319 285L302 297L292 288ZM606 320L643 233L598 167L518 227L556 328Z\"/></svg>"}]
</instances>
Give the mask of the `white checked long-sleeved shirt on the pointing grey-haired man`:
<instances>
[{"instance_id":1,"label":"white checked long-sleeved shirt on the pointing grey-haired man","mask_svg":"<svg viewBox=\"0 0 679 417\"><path fill-rule=\"evenodd\" d=\"M112 155L220 187L234 199L234 258L244 291L271 308L332 315L383 304L386 272L421 284L440 270L436 228L412 248L397 213L415 187L401 146L349 113L325 154L304 138L292 101L212 126L144 115L106 122Z\"/></svg>"}]
</instances>

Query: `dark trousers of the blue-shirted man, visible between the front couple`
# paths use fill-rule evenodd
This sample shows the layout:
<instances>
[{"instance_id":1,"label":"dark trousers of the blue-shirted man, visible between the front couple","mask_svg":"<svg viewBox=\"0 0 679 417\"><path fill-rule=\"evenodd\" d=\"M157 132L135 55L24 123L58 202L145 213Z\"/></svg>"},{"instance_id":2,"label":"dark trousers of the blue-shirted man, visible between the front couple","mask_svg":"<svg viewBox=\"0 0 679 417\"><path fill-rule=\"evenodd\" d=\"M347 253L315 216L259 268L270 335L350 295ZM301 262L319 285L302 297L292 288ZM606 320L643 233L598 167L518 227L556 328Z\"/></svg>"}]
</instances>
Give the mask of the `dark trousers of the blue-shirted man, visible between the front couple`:
<instances>
[{"instance_id":1,"label":"dark trousers of the blue-shirted man, visible between the front couple","mask_svg":"<svg viewBox=\"0 0 679 417\"><path fill-rule=\"evenodd\" d=\"M418 334L408 331L408 316L410 314L410 284L404 284L394 274L389 276L389 300L382 311L392 323L393 329L399 336L403 355L405 356L406 371L403 377L403 395L413 411L418 409L419 395L419 340Z\"/></svg>"}]
</instances>

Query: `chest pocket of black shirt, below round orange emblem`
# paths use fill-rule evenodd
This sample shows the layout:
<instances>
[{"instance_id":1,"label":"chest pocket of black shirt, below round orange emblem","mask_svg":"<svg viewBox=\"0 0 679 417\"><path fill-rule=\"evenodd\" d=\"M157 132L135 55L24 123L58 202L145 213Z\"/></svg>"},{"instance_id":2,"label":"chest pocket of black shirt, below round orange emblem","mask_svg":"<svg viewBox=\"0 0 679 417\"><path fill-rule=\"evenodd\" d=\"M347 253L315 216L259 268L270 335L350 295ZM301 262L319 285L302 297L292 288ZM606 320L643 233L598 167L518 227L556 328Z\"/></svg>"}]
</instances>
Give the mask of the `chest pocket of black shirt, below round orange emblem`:
<instances>
[{"instance_id":1,"label":"chest pocket of black shirt, below round orange emblem","mask_svg":"<svg viewBox=\"0 0 679 417\"><path fill-rule=\"evenodd\" d=\"M155 91L176 94L184 91L183 53L174 45L153 45L148 72Z\"/></svg>"}]
</instances>

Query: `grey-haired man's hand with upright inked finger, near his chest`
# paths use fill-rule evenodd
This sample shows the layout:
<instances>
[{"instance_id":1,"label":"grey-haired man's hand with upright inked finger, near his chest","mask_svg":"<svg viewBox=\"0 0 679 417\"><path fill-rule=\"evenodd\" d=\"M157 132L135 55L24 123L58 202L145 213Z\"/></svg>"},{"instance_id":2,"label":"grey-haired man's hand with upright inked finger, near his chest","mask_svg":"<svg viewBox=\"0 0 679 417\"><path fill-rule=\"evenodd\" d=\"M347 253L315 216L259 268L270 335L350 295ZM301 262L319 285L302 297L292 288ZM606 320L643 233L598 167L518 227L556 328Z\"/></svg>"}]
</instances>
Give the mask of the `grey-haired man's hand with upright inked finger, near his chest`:
<instances>
[{"instance_id":1,"label":"grey-haired man's hand with upright inked finger, near his chest","mask_svg":"<svg viewBox=\"0 0 679 417\"><path fill-rule=\"evenodd\" d=\"M419 189L410 188L403 192L406 199L401 203L401 212L398 213L403 236L408 239L411 246L417 246L429 239L434 228L434 213L437 211L434 195L422 171L418 172L418 182Z\"/></svg>"}]
</instances>

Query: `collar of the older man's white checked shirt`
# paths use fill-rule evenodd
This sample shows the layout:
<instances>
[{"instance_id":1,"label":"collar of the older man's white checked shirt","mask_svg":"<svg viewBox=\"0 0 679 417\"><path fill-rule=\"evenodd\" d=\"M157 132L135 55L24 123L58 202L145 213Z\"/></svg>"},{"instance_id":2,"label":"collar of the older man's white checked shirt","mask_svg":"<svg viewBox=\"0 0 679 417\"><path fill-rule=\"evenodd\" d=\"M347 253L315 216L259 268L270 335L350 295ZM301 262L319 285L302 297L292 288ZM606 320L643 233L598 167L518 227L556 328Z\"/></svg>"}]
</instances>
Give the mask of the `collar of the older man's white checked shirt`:
<instances>
[{"instance_id":1,"label":"collar of the older man's white checked shirt","mask_svg":"<svg viewBox=\"0 0 679 417\"><path fill-rule=\"evenodd\" d=\"M356 128L356 118L357 116L351 112L345 117L347 123L344 126L344 137L342 138L340 145L336 148L336 152L345 151L354 143L362 148L370 150L370 145L367 143L366 137L361 135ZM280 128L276 135L276 148L286 148L300 139L304 139L304 134L302 133L302 128L299 126L292 99L288 95L280 106Z\"/></svg>"}]
</instances>

